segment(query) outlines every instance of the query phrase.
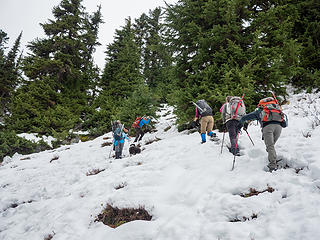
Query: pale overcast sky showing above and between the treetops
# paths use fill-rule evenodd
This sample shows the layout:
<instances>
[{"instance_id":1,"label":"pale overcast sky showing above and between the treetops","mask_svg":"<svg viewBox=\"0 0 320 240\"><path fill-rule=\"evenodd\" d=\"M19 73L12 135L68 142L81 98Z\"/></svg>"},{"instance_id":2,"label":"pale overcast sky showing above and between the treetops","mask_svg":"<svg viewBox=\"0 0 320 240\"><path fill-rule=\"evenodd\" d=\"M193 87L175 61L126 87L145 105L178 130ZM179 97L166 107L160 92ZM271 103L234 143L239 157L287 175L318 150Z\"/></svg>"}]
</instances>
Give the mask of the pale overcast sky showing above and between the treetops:
<instances>
[{"instance_id":1,"label":"pale overcast sky showing above and between the treetops","mask_svg":"<svg viewBox=\"0 0 320 240\"><path fill-rule=\"evenodd\" d=\"M178 0L166 0L175 3ZM36 37L44 37L44 32L39 23L54 19L52 8L59 5L60 0L0 0L0 29L8 34L11 47L19 33L23 31L21 47L24 49L27 42ZM83 0L86 11L96 11L97 5L102 6L104 24L100 26L99 42L102 46L97 48L95 62L102 69L104 67L104 51L106 45L113 41L115 29L124 25L128 16L138 18L149 9L165 6L163 0ZM24 51L26 52L26 50Z\"/></svg>"}]
</instances>

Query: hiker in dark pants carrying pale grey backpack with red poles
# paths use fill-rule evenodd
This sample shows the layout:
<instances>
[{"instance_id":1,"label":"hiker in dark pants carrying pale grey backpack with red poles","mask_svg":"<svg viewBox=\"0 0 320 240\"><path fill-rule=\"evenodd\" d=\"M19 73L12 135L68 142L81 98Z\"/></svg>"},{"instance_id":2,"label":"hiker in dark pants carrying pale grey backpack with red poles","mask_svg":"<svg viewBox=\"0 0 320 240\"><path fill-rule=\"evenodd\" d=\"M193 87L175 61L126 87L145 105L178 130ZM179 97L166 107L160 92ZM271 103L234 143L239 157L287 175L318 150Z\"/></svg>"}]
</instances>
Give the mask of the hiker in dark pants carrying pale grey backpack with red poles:
<instances>
[{"instance_id":1,"label":"hiker in dark pants carrying pale grey backpack with red poles","mask_svg":"<svg viewBox=\"0 0 320 240\"><path fill-rule=\"evenodd\" d=\"M229 133L231 144L229 151L235 156L240 156L239 145L237 144L239 133L237 126L240 118L246 114L244 102L240 102L240 100L239 97L227 96L226 102L221 107L222 121ZM245 129L247 129L247 124L245 123Z\"/></svg>"}]
</instances>

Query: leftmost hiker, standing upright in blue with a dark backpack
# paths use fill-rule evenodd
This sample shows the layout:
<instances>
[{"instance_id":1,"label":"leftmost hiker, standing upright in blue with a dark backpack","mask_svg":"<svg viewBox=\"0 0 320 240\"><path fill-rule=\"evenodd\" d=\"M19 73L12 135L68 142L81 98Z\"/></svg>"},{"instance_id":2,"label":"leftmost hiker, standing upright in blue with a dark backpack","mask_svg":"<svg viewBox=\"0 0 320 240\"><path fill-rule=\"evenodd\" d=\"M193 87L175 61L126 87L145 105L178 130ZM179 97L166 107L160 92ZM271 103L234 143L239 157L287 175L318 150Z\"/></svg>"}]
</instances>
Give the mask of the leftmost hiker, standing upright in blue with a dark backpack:
<instances>
[{"instance_id":1,"label":"leftmost hiker, standing upright in blue with a dark backpack","mask_svg":"<svg viewBox=\"0 0 320 240\"><path fill-rule=\"evenodd\" d=\"M116 159L120 159L122 157L122 150L124 146L124 141L129 138L124 132L124 126L121 124L120 120L115 121L112 124L112 132L113 132L113 147L116 153Z\"/></svg>"}]
</instances>

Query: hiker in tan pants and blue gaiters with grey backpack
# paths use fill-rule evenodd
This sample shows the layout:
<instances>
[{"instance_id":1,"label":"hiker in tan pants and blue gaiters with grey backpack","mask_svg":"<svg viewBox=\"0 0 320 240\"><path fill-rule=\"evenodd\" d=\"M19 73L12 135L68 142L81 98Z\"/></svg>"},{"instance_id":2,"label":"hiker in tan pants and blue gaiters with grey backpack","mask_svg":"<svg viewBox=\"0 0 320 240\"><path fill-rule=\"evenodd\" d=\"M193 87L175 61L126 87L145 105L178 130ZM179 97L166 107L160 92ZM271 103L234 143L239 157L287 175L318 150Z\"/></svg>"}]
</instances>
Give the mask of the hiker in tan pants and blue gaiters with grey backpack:
<instances>
[{"instance_id":1,"label":"hiker in tan pants and blue gaiters with grey backpack","mask_svg":"<svg viewBox=\"0 0 320 240\"><path fill-rule=\"evenodd\" d=\"M206 132L212 140L216 141L217 135L214 132L212 132L214 119L211 107L203 99L198 100L196 103L193 104L196 106L196 114L192 122L192 126L196 126L198 119L201 118L201 143L206 142Z\"/></svg>"}]
</instances>

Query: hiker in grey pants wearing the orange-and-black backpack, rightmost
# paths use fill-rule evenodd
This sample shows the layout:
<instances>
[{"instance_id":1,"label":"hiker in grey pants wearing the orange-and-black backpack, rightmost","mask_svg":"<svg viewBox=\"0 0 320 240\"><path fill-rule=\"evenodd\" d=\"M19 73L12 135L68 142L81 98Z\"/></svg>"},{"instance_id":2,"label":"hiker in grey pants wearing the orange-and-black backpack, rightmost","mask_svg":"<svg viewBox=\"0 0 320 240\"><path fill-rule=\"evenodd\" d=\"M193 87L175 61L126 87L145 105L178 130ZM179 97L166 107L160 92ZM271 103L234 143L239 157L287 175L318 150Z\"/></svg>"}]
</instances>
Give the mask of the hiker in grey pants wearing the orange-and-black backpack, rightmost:
<instances>
[{"instance_id":1,"label":"hiker in grey pants wearing the orange-and-black backpack, rightmost","mask_svg":"<svg viewBox=\"0 0 320 240\"><path fill-rule=\"evenodd\" d=\"M277 153L275 143L279 139L282 127L287 126L287 116L282 112L281 107L275 97L261 99L258 108L243 116L238 124L240 130L243 124L249 120L258 120L262 128L262 140L268 152L269 171L277 170Z\"/></svg>"}]
</instances>

